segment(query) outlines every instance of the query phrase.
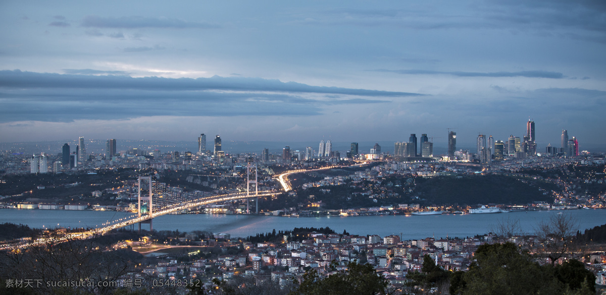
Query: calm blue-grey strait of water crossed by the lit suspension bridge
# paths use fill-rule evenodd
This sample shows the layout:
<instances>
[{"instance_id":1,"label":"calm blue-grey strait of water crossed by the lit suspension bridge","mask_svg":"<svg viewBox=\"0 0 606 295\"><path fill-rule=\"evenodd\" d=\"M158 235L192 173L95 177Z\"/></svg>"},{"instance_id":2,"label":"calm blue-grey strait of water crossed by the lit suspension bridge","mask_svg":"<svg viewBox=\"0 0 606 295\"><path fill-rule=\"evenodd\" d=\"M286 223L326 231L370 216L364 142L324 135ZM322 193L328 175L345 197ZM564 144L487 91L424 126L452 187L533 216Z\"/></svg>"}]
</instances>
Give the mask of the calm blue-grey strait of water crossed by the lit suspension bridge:
<instances>
[{"instance_id":1,"label":"calm blue-grey strait of water crossed by the lit suspension bridge","mask_svg":"<svg viewBox=\"0 0 606 295\"><path fill-rule=\"evenodd\" d=\"M232 237L245 237L271 230L290 230L294 227L330 227L338 233L347 230L352 235L402 235L404 239L421 239L431 236L466 237L490 232L498 222L519 220L525 233L534 233L538 222L562 212L578 221L579 230L606 223L606 210L529 211L465 215L376 215L347 217L278 217L265 215L164 215L153 219L155 230L191 232L205 230L213 233L230 233ZM113 211L72 210L18 210L0 209L0 223L27 224L37 228L99 227L104 222L125 218L132 213ZM138 228L138 227L136 227ZM142 229L149 229L142 224Z\"/></svg>"}]
</instances>

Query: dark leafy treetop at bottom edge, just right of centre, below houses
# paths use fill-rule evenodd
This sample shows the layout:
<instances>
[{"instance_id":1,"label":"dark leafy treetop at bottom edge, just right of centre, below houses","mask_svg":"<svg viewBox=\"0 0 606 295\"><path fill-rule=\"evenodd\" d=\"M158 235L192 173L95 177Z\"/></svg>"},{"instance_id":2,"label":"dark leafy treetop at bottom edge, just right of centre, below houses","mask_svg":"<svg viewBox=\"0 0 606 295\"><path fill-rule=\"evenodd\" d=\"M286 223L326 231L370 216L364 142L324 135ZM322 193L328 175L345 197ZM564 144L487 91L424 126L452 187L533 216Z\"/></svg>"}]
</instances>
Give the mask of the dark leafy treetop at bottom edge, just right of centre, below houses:
<instances>
[{"instance_id":1,"label":"dark leafy treetop at bottom edge, just right of centre, below houses","mask_svg":"<svg viewBox=\"0 0 606 295\"><path fill-rule=\"evenodd\" d=\"M336 266L333 261L331 266ZM316 270L306 271L296 290L289 295L348 295L348 294L387 294L387 280L377 274L370 264L350 262L346 271L337 271L328 277L320 277Z\"/></svg>"}]
</instances>

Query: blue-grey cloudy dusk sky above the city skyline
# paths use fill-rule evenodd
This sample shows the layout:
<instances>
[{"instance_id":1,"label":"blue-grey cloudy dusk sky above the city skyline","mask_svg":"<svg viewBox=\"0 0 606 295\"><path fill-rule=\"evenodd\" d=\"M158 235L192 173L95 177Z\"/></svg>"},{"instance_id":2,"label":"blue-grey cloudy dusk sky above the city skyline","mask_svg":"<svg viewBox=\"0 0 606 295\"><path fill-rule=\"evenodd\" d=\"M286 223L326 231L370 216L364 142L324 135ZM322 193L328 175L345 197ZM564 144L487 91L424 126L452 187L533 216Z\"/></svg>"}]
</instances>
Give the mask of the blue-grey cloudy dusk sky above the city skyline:
<instances>
[{"instance_id":1,"label":"blue-grey cloudy dusk sky above the city skyline","mask_svg":"<svg viewBox=\"0 0 606 295\"><path fill-rule=\"evenodd\" d=\"M603 0L2 1L0 141L606 146L605 53Z\"/></svg>"}]
</instances>

